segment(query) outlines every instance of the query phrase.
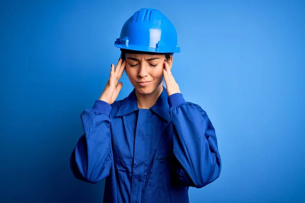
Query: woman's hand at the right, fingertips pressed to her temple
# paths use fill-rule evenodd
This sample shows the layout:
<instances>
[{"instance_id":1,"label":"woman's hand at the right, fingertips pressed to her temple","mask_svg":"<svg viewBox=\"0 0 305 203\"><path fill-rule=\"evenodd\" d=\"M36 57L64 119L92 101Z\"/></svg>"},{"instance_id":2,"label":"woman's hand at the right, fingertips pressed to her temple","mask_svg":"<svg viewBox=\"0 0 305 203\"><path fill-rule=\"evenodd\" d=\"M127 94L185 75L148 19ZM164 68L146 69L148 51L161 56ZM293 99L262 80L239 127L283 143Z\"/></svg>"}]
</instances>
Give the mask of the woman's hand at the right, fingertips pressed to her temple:
<instances>
[{"instance_id":1,"label":"woman's hand at the right, fingertips pressed to her temple","mask_svg":"<svg viewBox=\"0 0 305 203\"><path fill-rule=\"evenodd\" d=\"M163 61L163 64L164 64L163 75L166 84L167 95L170 96L174 93L180 93L179 86L176 83L170 71L171 67L169 67L168 62L166 60Z\"/></svg>"}]
</instances>

